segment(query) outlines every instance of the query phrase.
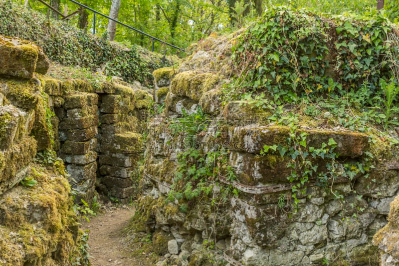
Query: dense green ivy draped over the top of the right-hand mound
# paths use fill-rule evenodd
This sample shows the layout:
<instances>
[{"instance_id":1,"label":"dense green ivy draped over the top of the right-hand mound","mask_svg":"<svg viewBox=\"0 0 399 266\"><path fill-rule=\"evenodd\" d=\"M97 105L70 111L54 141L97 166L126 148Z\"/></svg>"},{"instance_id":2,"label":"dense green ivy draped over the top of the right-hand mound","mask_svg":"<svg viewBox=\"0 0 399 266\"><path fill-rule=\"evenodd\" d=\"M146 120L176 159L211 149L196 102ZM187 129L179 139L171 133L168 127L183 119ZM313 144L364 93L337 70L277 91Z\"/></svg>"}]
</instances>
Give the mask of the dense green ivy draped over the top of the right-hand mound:
<instances>
[{"instance_id":1,"label":"dense green ivy draped over the top of the right-hand mound","mask_svg":"<svg viewBox=\"0 0 399 266\"><path fill-rule=\"evenodd\" d=\"M397 76L392 28L381 14L328 19L271 7L233 47L236 72L246 73L237 79L243 91L264 91L276 105L322 93L342 96L363 81L378 95L380 78Z\"/></svg>"}]
</instances>

